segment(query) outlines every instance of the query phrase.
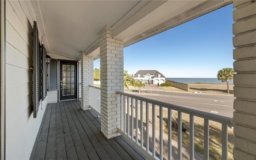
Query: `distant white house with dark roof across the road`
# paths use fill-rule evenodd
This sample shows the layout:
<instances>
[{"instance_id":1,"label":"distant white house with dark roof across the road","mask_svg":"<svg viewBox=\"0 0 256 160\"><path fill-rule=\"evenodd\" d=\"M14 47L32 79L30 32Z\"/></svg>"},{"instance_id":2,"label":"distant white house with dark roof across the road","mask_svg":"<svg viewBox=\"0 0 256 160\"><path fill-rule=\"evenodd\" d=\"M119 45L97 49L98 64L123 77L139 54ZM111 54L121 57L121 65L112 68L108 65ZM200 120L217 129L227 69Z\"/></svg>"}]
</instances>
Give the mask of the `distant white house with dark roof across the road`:
<instances>
[{"instance_id":1,"label":"distant white house with dark roof across the road","mask_svg":"<svg viewBox=\"0 0 256 160\"><path fill-rule=\"evenodd\" d=\"M134 80L142 80L144 84L162 84L165 76L157 70L139 70L134 74Z\"/></svg>"}]
</instances>

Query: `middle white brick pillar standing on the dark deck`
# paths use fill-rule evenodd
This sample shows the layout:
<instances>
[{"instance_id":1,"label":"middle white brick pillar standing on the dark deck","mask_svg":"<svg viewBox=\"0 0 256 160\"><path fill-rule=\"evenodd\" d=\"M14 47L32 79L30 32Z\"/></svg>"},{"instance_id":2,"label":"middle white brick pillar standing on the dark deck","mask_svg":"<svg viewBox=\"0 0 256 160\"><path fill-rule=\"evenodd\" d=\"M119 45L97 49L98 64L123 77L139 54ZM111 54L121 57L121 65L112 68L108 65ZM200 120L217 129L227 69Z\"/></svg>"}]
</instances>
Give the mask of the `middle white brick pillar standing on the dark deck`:
<instances>
[{"instance_id":1,"label":"middle white brick pillar standing on the dark deck","mask_svg":"<svg viewBox=\"0 0 256 160\"><path fill-rule=\"evenodd\" d=\"M123 47L110 30L100 34L101 132L108 139L119 135L120 95L116 91L124 91Z\"/></svg>"}]
</instances>

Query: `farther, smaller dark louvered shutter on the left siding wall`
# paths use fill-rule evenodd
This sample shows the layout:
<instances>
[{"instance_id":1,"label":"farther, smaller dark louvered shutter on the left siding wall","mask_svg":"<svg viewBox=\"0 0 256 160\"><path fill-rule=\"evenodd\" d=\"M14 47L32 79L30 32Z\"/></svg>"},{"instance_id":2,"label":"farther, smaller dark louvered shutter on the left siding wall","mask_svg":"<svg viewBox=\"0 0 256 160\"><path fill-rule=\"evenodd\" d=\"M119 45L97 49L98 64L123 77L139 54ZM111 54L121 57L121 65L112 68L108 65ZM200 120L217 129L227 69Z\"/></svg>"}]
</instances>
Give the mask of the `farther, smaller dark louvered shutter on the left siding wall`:
<instances>
[{"instance_id":1,"label":"farther, smaller dark louvered shutter on the left siding wall","mask_svg":"<svg viewBox=\"0 0 256 160\"><path fill-rule=\"evenodd\" d=\"M46 89L46 48L42 44L42 100L46 98L47 89Z\"/></svg>"}]
</instances>

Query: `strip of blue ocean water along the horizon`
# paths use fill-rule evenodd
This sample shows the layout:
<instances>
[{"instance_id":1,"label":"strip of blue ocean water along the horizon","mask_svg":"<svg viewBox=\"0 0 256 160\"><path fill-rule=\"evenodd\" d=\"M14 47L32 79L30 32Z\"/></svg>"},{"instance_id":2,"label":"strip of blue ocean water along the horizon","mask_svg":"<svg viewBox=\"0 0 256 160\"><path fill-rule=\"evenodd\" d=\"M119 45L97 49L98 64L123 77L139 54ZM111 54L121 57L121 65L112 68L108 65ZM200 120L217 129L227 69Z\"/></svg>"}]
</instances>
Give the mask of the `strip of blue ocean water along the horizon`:
<instances>
[{"instance_id":1,"label":"strip of blue ocean water along the horizon","mask_svg":"<svg viewBox=\"0 0 256 160\"><path fill-rule=\"evenodd\" d=\"M218 78L165 78L165 80L173 80L174 82L179 83L220 83L220 84L226 84L226 82L221 82L221 80L218 80ZM229 84L233 84L233 81Z\"/></svg>"}]
</instances>

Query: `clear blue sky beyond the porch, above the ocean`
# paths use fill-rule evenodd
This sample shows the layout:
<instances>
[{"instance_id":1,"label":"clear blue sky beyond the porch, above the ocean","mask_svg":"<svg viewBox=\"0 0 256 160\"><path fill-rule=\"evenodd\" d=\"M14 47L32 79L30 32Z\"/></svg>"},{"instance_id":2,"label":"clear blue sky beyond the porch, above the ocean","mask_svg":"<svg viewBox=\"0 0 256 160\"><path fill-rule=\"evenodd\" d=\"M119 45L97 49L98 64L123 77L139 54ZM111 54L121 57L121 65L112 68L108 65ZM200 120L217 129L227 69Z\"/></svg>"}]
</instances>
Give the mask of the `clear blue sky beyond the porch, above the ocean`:
<instances>
[{"instance_id":1,"label":"clear blue sky beyond the porch, above the ocean","mask_svg":"<svg viewBox=\"0 0 256 160\"><path fill-rule=\"evenodd\" d=\"M233 68L232 4L124 48L124 70L168 78L216 78ZM94 61L100 68L100 60Z\"/></svg>"}]
</instances>

